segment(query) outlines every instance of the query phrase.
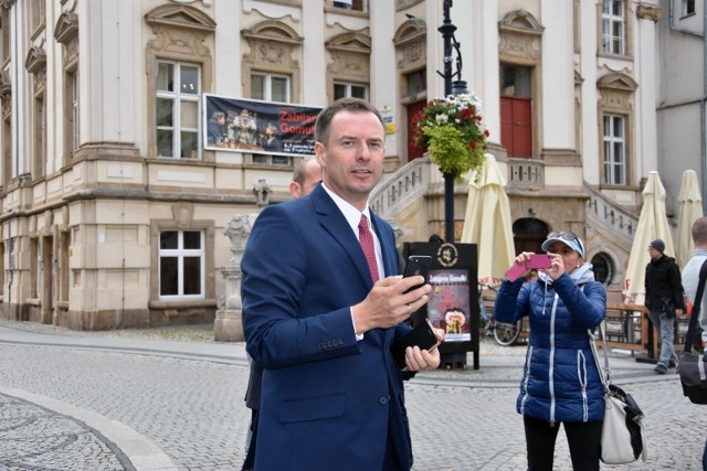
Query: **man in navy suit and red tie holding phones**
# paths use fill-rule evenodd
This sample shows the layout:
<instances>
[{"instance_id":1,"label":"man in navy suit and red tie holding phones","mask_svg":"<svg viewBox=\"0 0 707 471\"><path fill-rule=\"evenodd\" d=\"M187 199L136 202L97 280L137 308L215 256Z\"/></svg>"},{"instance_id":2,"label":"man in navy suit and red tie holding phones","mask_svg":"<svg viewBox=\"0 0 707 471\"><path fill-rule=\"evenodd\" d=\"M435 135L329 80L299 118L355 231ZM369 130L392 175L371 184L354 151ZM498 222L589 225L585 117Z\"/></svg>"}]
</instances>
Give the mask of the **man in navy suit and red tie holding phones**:
<instances>
[{"instance_id":1,"label":"man in navy suit and red tie holding phones","mask_svg":"<svg viewBox=\"0 0 707 471\"><path fill-rule=\"evenodd\" d=\"M392 228L368 206L384 158L380 114L337 100L317 117L315 140L324 182L263 210L241 264L247 351L264 367L255 469L409 470L403 373L390 346L431 287L404 293L423 279L397 275ZM440 355L409 347L405 362L416 372Z\"/></svg>"}]
</instances>

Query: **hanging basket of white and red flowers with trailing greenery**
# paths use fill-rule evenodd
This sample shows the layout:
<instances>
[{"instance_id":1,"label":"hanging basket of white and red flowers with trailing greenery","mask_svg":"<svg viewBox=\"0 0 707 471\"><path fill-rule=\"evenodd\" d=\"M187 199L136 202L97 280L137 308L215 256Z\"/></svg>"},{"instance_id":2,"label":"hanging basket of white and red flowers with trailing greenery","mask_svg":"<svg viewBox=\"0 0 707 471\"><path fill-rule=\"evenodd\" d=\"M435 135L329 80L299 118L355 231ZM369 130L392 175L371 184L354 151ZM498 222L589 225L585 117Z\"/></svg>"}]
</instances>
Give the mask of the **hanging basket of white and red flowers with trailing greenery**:
<instances>
[{"instance_id":1,"label":"hanging basket of white and red flowers with trailing greenery","mask_svg":"<svg viewBox=\"0 0 707 471\"><path fill-rule=\"evenodd\" d=\"M413 144L430 153L442 174L481 175L488 130L482 122L482 104L475 94L433 99L413 117Z\"/></svg>"}]
</instances>

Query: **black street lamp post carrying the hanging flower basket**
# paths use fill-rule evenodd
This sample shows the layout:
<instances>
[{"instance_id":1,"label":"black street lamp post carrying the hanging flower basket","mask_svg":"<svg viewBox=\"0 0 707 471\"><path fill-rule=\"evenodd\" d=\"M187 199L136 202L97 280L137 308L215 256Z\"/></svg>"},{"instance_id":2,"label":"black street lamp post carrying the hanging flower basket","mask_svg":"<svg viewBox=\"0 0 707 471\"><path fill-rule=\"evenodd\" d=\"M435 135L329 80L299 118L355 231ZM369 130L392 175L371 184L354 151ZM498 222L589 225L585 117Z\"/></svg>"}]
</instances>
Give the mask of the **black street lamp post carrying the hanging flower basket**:
<instances>
[{"instance_id":1,"label":"black street lamp post carrying the hanging flower basket","mask_svg":"<svg viewBox=\"0 0 707 471\"><path fill-rule=\"evenodd\" d=\"M444 96L468 93L466 82L462 81L462 55L460 54L460 43L454 38L456 26L452 24L450 9L452 0L444 0L444 21L437 28L444 40ZM456 50L456 72L452 72L452 54ZM454 81L454 77L457 79ZM458 175L444 174L444 233L446 242L454 243L454 181Z\"/></svg>"}]
</instances>

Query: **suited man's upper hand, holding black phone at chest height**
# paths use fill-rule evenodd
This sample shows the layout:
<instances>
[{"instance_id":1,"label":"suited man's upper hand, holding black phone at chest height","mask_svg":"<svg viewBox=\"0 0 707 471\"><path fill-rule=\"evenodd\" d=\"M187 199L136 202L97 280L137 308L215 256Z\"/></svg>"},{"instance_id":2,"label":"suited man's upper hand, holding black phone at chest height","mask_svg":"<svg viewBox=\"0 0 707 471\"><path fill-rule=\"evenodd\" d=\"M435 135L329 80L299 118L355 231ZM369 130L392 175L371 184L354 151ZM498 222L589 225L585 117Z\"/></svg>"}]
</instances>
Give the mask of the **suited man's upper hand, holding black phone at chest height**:
<instances>
[{"instance_id":1,"label":"suited man's upper hand, holding black phone at chest height","mask_svg":"<svg viewBox=\"0 0 707 471\"><path fill-rule=\"evenodd\" d=\"M424 285L408 293L409 288L424 282L420 275L413 277L388 277L376 285L366 299L354 306L356 333L362 334L371 329L388 329L405 321L413 312L428 302L430 285Z\"/></svg>"}]
</instances>

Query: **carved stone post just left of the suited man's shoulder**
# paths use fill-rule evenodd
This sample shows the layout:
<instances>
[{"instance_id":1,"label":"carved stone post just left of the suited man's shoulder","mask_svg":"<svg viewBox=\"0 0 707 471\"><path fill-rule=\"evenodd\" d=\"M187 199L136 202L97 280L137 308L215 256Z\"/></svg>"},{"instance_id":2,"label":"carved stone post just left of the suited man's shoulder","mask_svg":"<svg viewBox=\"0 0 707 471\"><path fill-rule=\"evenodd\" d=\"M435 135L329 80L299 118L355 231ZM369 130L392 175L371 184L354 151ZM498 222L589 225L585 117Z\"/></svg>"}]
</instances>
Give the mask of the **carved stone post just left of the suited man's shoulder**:
<instances>
[{"instance_id":1,"label":"carved stone post just left of the suited man's shoulder","mask_svg":"<svg viewBox=\"0 0 707 471\"><path fill-rule=\"evenodd\" d=\"M219 310L214 321L214 340L217 342L243 342L243 303L241 301L241 258L244 240L251 233L247 216L235 215L231 218L223 234L231 239L233 257L229 266L221 269L225 279L225 293L219 299Z\"/></svg>"}]
</instances>

